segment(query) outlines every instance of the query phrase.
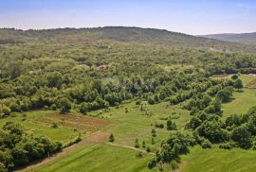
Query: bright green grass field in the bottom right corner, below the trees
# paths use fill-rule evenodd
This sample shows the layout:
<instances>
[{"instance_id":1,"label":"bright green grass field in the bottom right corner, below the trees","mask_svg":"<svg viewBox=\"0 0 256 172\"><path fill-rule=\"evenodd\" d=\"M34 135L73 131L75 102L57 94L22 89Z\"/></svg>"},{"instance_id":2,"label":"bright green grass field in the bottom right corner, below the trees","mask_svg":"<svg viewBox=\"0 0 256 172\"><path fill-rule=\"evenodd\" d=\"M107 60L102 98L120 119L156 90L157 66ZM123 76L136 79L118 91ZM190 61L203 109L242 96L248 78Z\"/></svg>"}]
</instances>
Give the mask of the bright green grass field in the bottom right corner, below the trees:
<instances>
[{"instance_id":1,"label":"bright green grass field in the bottom right corner, below the trees","mask_svg":"<svg viewBox=\"0 0 256 172\"><path fill-rule=\"evenodd\" d=\"M199 146L191 148L191 153L182 156L182 172L254 172L256 151L234 148L231 150Z\"/></svg>"}]
</instances>

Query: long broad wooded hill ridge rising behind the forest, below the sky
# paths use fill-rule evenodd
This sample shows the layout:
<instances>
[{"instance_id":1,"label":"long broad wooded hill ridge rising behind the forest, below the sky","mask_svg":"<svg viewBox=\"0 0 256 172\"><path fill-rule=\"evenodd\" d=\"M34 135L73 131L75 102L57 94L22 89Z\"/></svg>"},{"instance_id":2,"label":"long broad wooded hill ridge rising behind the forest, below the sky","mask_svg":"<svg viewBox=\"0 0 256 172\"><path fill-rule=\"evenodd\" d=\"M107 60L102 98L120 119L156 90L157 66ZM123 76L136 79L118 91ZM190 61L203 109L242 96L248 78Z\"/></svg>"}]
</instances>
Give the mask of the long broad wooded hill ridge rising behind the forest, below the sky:
<instances>
[{"instance_id":1,"label":"long broad wooded hill ridge rising behind the forest, below the sky","mask_svg":"<svg viewBox=\"0 0 256 172\"><path fill-rule=\"evenodd\" d=\"M27 41L57 41L59 43L90 43L115 41L127 43L157 43L210 49L213 51L256 52L253 46L195 37L168 30L125 26L105 26L95 28L57 28L43 30L0 29L1 43L24 43Z\"/></svg>"}]
</instances>

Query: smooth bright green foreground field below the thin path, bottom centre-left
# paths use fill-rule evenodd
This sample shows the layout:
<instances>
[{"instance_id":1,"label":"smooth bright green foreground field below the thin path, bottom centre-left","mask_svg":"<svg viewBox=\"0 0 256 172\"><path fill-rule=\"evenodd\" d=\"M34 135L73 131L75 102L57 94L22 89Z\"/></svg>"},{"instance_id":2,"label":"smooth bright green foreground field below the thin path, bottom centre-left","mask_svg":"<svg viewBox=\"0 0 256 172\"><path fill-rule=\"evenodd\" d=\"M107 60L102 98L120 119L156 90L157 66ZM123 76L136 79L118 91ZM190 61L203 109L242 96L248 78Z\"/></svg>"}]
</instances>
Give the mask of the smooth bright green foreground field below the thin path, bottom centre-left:
<instances>
[{"instance_id":1,"label":"smooth bright green foreground field below the thin path, bottom centre-left","mask_svg":"<svg viewBox=\"0 0 256 172\"><path fill-rule=\"evenodd\" d=\"M138 158L137 151L106 144L85 144L72 149L61 159L42 165L34 172L128 172L149 171L147 163L154 155L144 153ZM156 171L156 169L151 170Z\"/></svg>"}]
</instances>

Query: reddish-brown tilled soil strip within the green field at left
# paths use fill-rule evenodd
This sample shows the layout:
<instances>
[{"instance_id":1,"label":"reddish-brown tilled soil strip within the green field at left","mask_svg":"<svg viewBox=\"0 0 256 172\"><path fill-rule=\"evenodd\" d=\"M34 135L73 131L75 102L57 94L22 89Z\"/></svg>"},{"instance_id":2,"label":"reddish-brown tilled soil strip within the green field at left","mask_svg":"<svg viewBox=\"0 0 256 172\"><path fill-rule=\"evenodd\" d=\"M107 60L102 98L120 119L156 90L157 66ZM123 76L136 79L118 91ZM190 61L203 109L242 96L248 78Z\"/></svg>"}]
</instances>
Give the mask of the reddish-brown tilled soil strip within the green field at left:
<instances>
[{"instance_id":1,"label":"reddish-brown tilled soil strip within the green field at left","mask_svg":"<svg viewBox=\"0 0 256 172\"><path fill-rule=\"evenodd\" d=\"M52 125L53 123L58 126L69 129L81 129L87 131L97 131L105 126L111 124L109 121L105 121L99 118L90 116L79 116L76 114L46 114L46 117L37 118L36 121Z\"/></svg>"}]
</instances>

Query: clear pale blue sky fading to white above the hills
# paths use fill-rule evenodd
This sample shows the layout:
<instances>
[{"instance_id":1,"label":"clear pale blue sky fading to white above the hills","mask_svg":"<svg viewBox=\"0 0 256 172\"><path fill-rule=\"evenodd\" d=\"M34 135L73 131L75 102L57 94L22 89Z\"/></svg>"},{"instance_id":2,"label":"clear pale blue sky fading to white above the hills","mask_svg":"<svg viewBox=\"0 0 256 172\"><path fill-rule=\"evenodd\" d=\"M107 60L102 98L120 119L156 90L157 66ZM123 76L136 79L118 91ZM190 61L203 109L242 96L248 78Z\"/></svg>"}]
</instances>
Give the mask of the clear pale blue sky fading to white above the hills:
<instances>
[{"instance_id":1,"label":"clear pale blue sky fading to white above the hills","mask_svg":"<svg viewBox=\"0 0 256 172\"><path fill-rule=\"evenodd\" d=\"M0 27L17 29L137 26L191 35L256 31L252 0L9 0Z\"/></svg>"}]
</instances>

